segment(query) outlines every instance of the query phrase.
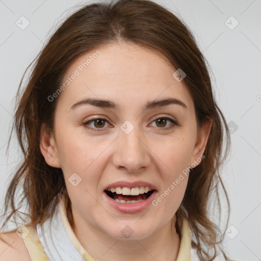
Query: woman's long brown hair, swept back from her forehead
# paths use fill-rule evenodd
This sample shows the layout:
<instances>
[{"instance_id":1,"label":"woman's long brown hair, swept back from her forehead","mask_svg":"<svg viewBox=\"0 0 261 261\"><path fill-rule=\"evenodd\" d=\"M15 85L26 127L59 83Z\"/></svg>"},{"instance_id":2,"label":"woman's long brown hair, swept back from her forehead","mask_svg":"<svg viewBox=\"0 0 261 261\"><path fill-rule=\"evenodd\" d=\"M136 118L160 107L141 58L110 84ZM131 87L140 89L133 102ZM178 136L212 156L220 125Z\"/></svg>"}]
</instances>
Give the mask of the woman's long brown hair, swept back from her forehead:
<instances>
[{"instance_id":1,"label":"woman's long brown hair, swept back from her forehead","mask_svg":"<svg viewBox=\"0 0 261 261\"><path fill-rule=\"evenodd\" d=\"M181 68L187 75L183 81L194 100L197 122L200 125L209 118L213 119L204 151L205 158L190 172L184 199L176 213L177 220L182 220L182 217L188 219L194 235L192 245L197 247L200 260L213 260L224 233L211 221L208 204L211 195L216 194L221 213L221 188L228 204L228 222L229 201L220 177L230 148L228 127L213 95L207 62L194 36L171 11L147 0L119 0L84 6L60 25L28 66L25 72L34 65L22 94L25 73L20 82L12 128L12 132L14 129L16 131L24 160L7 190L5 212L9 206L12 211L2 228L11 217L18 216L17 211L24 200L28 205L25 215L34 225L42 224L53 216L63 192L69 202L62 170L47 165L40 151L41 124L45 123L50 131L53 129L58 100L50 102L48 97L58 90L67 68L77 57L99 46L119 41L156 50L175 68ZM22 185L23 197L16 208L14 202L18 185ZM221 251L228 260L224 251Z\"/></svg>"}]
</instances>

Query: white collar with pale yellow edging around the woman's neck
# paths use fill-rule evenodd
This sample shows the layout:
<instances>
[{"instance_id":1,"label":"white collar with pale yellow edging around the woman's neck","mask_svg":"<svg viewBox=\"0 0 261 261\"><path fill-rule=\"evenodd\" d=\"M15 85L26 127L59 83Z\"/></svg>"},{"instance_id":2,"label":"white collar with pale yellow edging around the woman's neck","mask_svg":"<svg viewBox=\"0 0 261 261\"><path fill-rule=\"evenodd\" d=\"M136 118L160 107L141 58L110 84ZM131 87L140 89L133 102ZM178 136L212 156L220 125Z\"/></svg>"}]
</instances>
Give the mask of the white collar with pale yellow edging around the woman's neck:
<instances>
[{"instance_id":1,"label":"white collar with pale yellow edging around the woman's neck","mask_svg":"<svg viewBox=\"0 0 261 261\"><path fill-rule=\"evenodd\" d=\"M47 219L42 225L36 225L36 231L28 227L31 235L28 235L28 229L24 234L25 245L27 245L31 256L37 257L32 260L56 260L56 261L96 261L84 249L76 238L67 217L67 202L62 195L58 208L52 219ZM35 232L34 232L35 231ZM24 233L25 233L24 232ZM39 238L39 240L38 240ZM37 240L36 240L37 239ZM32 241L32 242L31 242ZM45 253L44 253L45 252ZM46 257L39 259L39 254ZM191 234L187 219L182 220L181 240L176 261L191 261ZM48 258L47 258L48 257Z\"/></svg>"}]
</instances>

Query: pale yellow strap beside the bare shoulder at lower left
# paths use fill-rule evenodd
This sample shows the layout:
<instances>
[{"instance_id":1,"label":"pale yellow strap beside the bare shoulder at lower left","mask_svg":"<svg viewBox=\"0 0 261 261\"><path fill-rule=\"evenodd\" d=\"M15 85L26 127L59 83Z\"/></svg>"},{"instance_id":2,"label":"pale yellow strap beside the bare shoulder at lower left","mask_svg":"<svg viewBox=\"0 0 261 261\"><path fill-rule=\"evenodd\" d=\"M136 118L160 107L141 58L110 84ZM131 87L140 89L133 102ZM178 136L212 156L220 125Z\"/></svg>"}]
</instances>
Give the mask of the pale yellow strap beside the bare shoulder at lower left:
<instances>
[{"instance_id":1,"label":"pale yellow strap beside the bare shoulder at lower left","mask_svg":"<svg viewBox=\"0 0 261 261\"><path fill-rule=\"evenodd\" d=\"M23 239L32 261L50 261L38 237L36 227L26 224L17 229Z\"/></svg>"}]
</instances>

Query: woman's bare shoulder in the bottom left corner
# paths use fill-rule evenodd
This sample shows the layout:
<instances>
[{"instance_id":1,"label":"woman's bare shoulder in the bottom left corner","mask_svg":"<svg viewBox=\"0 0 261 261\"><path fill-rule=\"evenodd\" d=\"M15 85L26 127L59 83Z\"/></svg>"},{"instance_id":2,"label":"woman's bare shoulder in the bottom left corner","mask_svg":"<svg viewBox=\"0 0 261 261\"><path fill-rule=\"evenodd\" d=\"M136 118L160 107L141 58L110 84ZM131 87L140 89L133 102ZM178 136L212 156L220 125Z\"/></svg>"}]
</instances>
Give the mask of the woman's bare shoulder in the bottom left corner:
<instances>
[{"instance_id":1,"label":"woman's bare shoulder in the bottom left corner","mask_svg":"<svg viewBox=\"0 0 261 261\"><path fill-rule=\"evenodd\" d=\"M0 260L17 260L18 256L20 261L31 261L31 257L23 239L18 236L16 231L0 233Z\"/></svg>"}]
</instances>

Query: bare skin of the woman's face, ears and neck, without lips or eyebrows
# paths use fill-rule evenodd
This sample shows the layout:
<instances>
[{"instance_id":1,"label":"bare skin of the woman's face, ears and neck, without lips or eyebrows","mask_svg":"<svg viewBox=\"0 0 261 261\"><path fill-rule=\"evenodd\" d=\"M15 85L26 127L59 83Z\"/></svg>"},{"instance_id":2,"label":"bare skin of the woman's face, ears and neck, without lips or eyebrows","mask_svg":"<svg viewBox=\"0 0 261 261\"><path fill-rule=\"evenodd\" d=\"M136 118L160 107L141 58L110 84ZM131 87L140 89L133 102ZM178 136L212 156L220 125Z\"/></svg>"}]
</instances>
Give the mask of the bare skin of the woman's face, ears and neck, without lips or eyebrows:
<instances>
[{"instance_id":1,"label":"bare skin of the woman's face, ears and neck, without lips or eyebrows","mask_svg":"<svg viewBox=\"0 0 261 261\"><path fill-rule=\"evenodd\" d=\"M193 99L184 81L172 76L176 69L156 51L126 43L99 50L101 54L59 95L54 132L42 128L41 152L48 165L63 171L75 236L94 259L176 260L180 238L171 220L175 224L189 175L157 206L136 214L114 210L103 190L118 180L142 180L156 186L157 198L203 154L212 122L197 133ZM77 58L64 79L94 52ZM112 100L120 109L83 105L70 110L87 97ZM169 97L181 100L187 109L168 105L142 110L147 101ZM102 122L102 131L83 125L90 116L108 120ZM180 126L157 124L155 116L170 117ZM126 120L134 126L129 134L120 128ZM174 127L167 129L170 125ZM88 126L99 129L94 121ZM82 178L76 187L68 181L72 173ZM128 239L121 234L126 225L134 231Z\"/></svg>"}]
</instances>

